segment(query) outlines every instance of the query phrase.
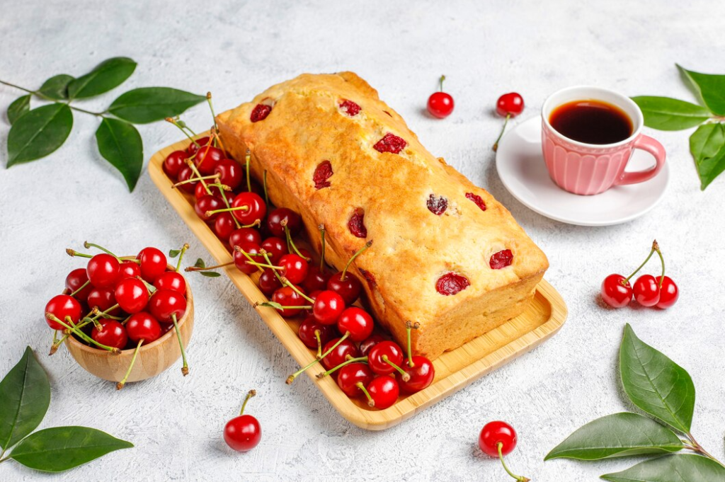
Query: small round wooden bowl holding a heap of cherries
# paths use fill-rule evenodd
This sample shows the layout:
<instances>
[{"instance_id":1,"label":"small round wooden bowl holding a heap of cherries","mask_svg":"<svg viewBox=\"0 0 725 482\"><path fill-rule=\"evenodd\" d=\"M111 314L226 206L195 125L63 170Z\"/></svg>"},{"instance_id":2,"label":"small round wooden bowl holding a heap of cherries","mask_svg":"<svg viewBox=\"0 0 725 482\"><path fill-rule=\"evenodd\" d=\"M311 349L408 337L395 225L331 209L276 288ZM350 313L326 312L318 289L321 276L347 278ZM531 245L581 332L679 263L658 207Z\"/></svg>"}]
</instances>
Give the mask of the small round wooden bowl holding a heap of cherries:
<instances>
[{"instance_id":1,"label":"small round wooden bowl holding a heap of cherries","mask_svg":"<svg viewBox=\"0 0 725 482\"><path fill-rule=\"evenodd\" d=\"M174 267L169 267L173 270ZM191 295L191 287L186 283L186 312L178 320L181 341L186 349L191 339L191 332L194 331L194 296ZM65 346L68 351L91 375L96 375L108 381L120 381L123 379L128 365L133 357L133 349L122 350L119 354L112 354L106 350L93 348L80 343L75 336L65 339ZM141 345L133 365L128 381L141 381L152 378L173 365L181 357L176 331L171 328L164 333L157 341L148 345ZM181 370L181 365L179 365Z\"/></svg>"}]
</instances>

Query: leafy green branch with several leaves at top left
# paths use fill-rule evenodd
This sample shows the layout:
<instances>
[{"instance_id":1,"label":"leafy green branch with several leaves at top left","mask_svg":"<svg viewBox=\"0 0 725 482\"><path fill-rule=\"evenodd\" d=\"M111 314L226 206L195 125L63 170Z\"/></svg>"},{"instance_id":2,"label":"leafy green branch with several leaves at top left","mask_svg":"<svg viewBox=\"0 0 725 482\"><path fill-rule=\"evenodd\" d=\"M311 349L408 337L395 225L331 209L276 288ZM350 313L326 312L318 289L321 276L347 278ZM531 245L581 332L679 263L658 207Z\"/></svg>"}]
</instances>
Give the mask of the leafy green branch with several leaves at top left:
<instances>
[{"instance_id":1,"label":"leafy green branch with several leaves at top left","mask_svg":"<svg viewBox=\"0 0 725 482\"><path fill-rule=\"evenodd\" d=\"M123 175L128 190L133 191L144 165L143 141L133 124L174 117L207 99L175 88L142 87L121 94L103 112L91 112L72 104L78 99L111 91L124 83L134 70L136 62L132 59L114 57L78 78L54 75L38 90L0 80L5 86L28 93L15 99L7 109L11 124L7 167L41 159L62 146L72 130L75 111L101 119L96 130L99 152ZM30 109L33 96L49 104Z\"/></svg>"}]
</instances>

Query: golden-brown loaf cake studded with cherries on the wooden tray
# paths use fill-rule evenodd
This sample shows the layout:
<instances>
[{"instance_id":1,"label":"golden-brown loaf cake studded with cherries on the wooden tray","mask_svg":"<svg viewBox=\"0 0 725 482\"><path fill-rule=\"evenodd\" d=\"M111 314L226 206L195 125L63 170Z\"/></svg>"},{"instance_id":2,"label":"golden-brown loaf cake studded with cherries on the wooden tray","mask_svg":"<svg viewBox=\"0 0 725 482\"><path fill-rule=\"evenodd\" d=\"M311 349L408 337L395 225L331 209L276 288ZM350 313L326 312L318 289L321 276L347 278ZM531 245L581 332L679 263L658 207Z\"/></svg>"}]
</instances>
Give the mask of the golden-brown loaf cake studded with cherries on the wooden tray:
<instances>
[{"instance_id":1,"label":"golden-brown loaf cake studded with cherries on the wooden tray","mask_svg":"<svg viewBox=\"0 0 725 482\"><path fill-rule=\"evenodd\" d=\"M433 359L519 315L548 267L510 212L430 154L352 72L304 74L219 115L226 149L267 171L270 200L301 213L326 260L355 259L377 319Z\"/></svg>"}]
</instances>

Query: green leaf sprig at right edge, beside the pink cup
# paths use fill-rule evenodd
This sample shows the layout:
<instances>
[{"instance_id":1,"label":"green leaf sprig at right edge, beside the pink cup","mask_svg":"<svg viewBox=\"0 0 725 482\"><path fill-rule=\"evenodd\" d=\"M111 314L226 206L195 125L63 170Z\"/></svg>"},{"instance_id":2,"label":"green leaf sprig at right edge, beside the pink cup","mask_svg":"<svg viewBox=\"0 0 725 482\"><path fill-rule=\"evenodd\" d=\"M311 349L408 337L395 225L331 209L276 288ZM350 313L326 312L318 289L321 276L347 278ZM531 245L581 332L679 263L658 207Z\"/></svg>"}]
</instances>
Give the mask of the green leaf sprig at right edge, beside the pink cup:
<instances>
[{"instance_id":1,"label":"green leaf sprig at right edge, beside the pink cup","mask_svg":"<svg viewBox=\"0 0 725 482\"><path fill-rule=\"evenodd\" d=\"M725 75L703 74L677 65L700 104L657 96L632 97L645 125L659 130L700 127L689 138L700 188L704 191L725 170Z\"/></svg>"}]
</instances>

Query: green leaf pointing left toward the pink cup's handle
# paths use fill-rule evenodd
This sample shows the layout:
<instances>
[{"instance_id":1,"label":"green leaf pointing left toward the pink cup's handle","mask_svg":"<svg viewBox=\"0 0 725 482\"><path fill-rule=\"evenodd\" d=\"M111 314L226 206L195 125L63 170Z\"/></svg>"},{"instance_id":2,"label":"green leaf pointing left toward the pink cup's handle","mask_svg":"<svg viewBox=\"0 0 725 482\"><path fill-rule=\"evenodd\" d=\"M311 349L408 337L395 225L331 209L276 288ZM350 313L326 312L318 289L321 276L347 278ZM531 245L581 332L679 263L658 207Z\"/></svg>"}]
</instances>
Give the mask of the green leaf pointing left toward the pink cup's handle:
<instances>
[{"instance_id":1,"label":"green leaf pointing left toward the pink cup's handle","mask_svg":"<svg viewBox=\"0 0 725 482\"><path fill-rule=\"evenodd\" d=\"M705 107L669 97L632 97L642 114L645 125L659 130L681 130L702 124L712 117Z\"/></svg>"}]
</instances>

